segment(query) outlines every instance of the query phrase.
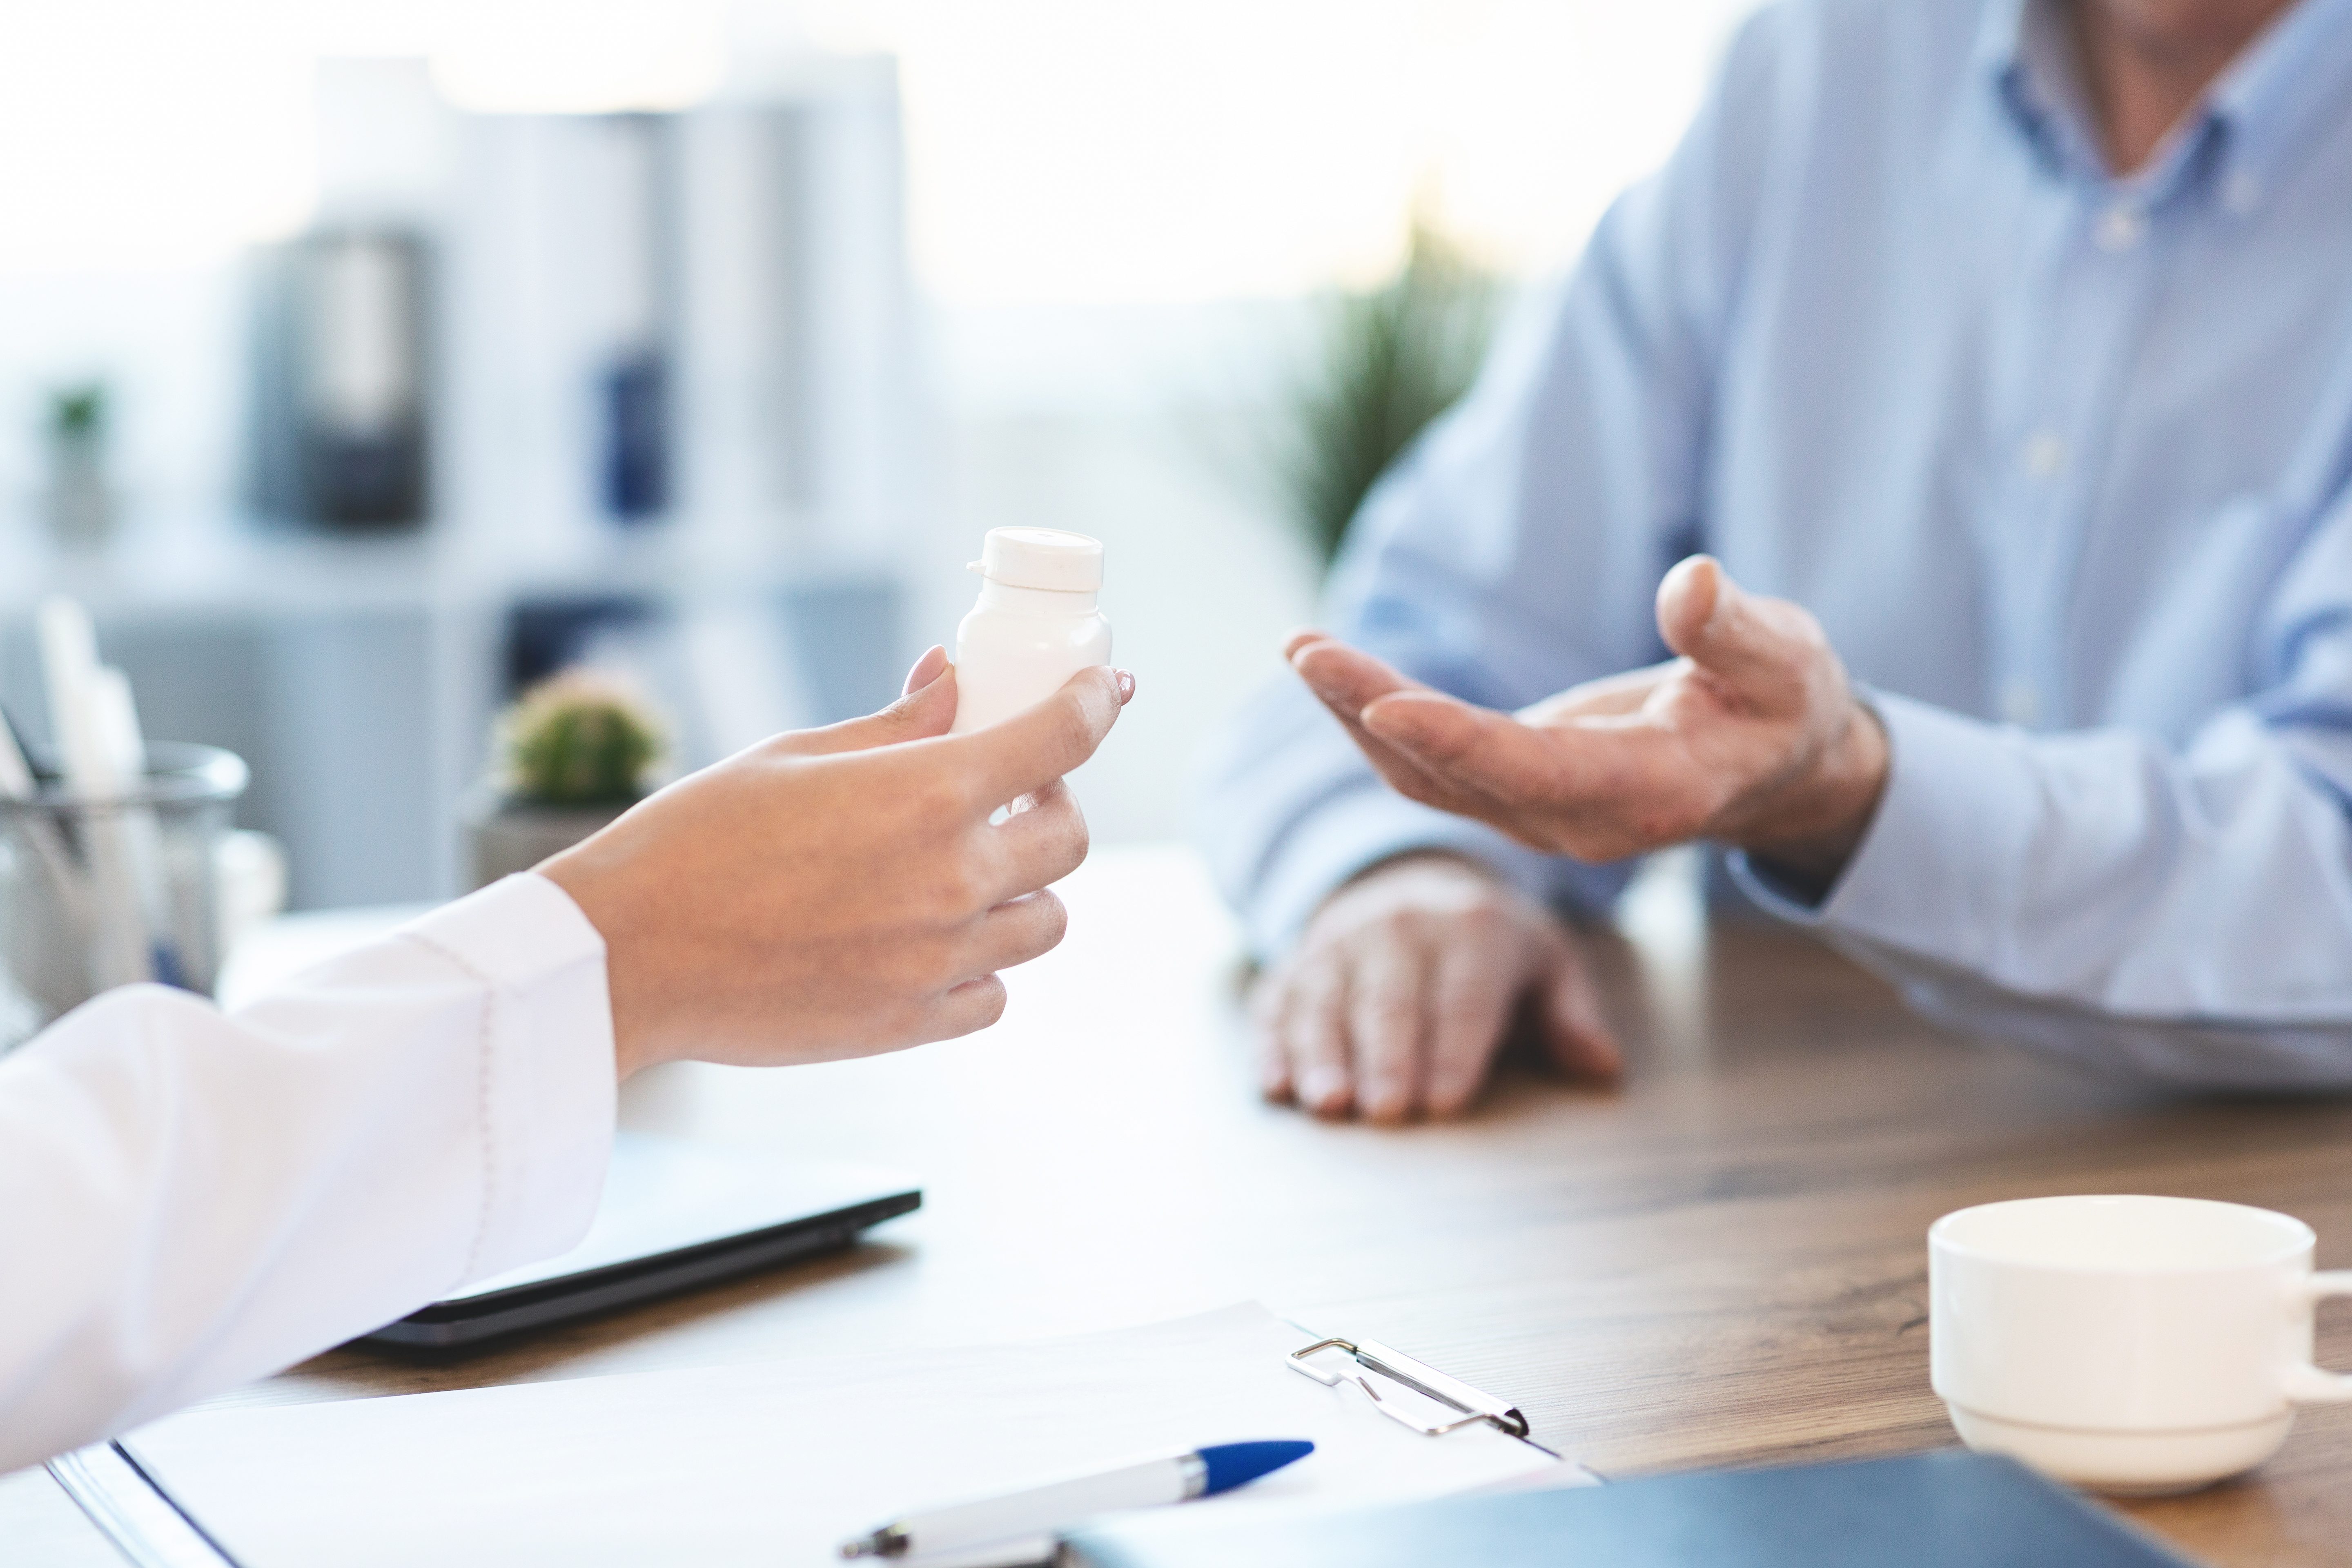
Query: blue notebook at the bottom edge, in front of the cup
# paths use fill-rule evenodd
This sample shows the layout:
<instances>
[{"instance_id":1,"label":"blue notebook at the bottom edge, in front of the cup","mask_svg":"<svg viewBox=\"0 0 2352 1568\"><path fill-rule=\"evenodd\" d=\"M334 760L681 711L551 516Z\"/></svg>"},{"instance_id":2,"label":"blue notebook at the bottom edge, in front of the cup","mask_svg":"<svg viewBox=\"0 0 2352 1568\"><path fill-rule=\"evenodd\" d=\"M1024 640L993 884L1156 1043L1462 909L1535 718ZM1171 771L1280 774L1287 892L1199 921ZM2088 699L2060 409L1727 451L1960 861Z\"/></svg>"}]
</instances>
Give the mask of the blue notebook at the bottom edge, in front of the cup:
<instances>
[{"instance_id":1,"label":"blue notebook at the bottom edge, in front of the cup","mask_svg":"<svg viewBox=\"0 0 2352 1568\"><path fill-rule=\"evenodd\" d=\"M2013 1460L1964 1450L1693 1472L1230 1526L1157 1509L1080 1530L1063 1568L2187 1568Z\"/></svg>"}]
</instances>

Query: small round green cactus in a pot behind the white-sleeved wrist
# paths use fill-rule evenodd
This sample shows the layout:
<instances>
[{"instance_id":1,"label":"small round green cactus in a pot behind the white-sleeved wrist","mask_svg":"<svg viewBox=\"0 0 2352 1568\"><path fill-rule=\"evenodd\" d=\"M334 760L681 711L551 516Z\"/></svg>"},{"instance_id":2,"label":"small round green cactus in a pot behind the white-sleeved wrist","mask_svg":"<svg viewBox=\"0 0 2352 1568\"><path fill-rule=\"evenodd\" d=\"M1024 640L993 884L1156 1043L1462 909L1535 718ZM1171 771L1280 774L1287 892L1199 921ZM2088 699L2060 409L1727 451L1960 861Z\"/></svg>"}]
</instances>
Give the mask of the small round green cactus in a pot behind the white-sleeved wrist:
<instances>
[{"instance_id":1,"label":"small round green cactus in a pot behind the white-sleeved wrist","mask_svg":"<svg viewBox=\"0 0 2352 1568\"><path fill-rule=\"evenodd\" d=\"M527 872L654 788L661 719L621 682L564 670L499 717L496 771L466 813L473 886Z\"/></svg>"}]
</instances>

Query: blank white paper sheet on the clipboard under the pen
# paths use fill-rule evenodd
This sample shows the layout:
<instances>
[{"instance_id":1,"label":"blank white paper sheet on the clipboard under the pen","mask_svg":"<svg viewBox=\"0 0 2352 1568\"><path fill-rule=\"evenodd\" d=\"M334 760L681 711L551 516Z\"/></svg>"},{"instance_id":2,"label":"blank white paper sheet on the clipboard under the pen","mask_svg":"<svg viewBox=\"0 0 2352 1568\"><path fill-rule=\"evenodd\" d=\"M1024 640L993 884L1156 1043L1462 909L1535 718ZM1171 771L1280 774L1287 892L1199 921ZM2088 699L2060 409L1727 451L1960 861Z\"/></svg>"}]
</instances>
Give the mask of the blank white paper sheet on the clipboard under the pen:
<instances>
[{"instance_id":1,"label":"blank white paper sheet on the clipboard under the pen","mask_svg":"<svg viewBox=\"0 0 2352 1568\"><path fill-rule=\"evenodd\" d=\"M1559 1467L1432 1439L1282 1366L1256 1305L1115 1333L174 1415L125 1446L245 1568L837 1563L906 1509L1122 1458L1305 1436L1185 1507L1402 1502Z\"/></svg>"}]
</instances>

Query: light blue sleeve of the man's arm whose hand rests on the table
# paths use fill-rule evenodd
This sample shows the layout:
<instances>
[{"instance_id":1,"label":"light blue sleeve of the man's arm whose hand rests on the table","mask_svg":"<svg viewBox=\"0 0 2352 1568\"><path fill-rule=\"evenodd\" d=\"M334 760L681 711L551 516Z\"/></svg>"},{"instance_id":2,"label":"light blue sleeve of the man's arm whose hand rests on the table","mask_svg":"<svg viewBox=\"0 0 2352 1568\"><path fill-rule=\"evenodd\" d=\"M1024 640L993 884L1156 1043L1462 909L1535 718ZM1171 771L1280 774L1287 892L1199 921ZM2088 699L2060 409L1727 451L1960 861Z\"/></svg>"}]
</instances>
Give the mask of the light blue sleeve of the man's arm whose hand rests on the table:
<instances>
[{"instance_id":1,"label":"light blue sleeve of the man's arm whose hand rests on the table","mask_svg":"<svg viewBox=\"0 0 2352 1568\"><path fill-rule=\"evenodd\" d=\"M1611 207L1573 275L1505 324L1472 393L1364 501L1331 578L1336 635L1505 710L1665 656L1651 604L1698 545L1710 367L1757 209L1778 26L1764 12L1743 28L1668 167ZM1463 851L1588 907L1630 872L1399 799L1289 672L1207 757L1197 837L1261 957L1409 849Z\"/></svg>"}]
</instances>

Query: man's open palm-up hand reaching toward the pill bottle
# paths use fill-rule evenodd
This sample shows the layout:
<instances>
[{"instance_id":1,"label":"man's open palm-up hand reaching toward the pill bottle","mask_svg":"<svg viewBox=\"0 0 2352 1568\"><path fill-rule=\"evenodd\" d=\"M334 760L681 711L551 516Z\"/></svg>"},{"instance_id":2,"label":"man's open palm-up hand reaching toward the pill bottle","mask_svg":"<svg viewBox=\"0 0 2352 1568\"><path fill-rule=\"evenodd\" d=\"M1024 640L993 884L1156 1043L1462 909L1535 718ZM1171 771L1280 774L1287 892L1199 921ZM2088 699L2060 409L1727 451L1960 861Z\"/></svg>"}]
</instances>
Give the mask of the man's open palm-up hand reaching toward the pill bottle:
<instances>
[{"instance_id":1,"label":"man's open palm-up hand reaching toward the pill bottle","mask_svg":"<svg viewBox=\"0 0 2352 1568\"><path fill-rule=\"evenodd\" d=\"M1693 555L1658 585L1658 630L1679 658L1515 715L1319 632L1287 651L1381 778L1418 802L1578 860L1715 839L1825 891L1886 788L1886 733L1820 623Z\"/></svg>"}]
</instances>

